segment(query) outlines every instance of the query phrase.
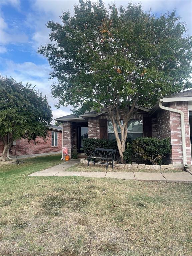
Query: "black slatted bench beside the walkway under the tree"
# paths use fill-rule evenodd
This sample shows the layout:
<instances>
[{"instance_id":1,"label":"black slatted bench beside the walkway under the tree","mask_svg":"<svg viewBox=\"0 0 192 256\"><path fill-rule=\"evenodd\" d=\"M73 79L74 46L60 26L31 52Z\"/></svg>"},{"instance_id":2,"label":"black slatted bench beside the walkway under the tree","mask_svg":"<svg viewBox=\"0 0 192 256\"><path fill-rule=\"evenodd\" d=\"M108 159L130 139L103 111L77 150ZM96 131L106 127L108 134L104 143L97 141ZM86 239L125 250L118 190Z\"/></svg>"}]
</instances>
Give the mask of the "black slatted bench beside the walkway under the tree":
<instances>
[{"instance_id":1,"label":"black slatted bench beside the walkway under the tree","mask_svg":"<svg viewBox=\"0 0 192 256\"><path fill-rule=\"evenodd\" d=\"M115 160L116 149L109 149L109 148L96 148L92 156L88 156L88 166L89 163L99 163L99 164L106 164L106 169L108 165L112 165L113 168L113 161ZM93 160L91 160L93 158ZM96 159L99 159L95 161ZM111 163L109 163L109 161Z\"/></svg>"}]
</instances>

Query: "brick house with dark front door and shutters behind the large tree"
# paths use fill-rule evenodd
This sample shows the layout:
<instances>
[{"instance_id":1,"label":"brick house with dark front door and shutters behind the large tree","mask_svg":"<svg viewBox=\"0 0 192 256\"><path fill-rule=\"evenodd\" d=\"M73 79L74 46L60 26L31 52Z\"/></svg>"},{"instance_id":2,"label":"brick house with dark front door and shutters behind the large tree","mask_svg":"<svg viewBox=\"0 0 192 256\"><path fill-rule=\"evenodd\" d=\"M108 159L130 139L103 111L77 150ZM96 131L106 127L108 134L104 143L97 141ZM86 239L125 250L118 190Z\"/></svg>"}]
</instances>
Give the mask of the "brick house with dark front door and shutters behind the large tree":
<instances>
[{"instance_id":1,"label":"brick house with dark front door and shutters behind the large tree","mask_svg":"<svg viewBox=\"0 0 192 256\"><path fill-rule=\"evenodd\" d=\"M175 167L190 166L191 119L192 90L187 90L159 99L152 109L140 107L129 122L128 137L169 137L172 154L168 162ZM104 110L86 111L80 117L67 115L55 120L63 123L63 147L68 147L69 155L73 150L79 156L83 153L83 138L114 139L111 120Z\"/></svg>"}]
</instances>

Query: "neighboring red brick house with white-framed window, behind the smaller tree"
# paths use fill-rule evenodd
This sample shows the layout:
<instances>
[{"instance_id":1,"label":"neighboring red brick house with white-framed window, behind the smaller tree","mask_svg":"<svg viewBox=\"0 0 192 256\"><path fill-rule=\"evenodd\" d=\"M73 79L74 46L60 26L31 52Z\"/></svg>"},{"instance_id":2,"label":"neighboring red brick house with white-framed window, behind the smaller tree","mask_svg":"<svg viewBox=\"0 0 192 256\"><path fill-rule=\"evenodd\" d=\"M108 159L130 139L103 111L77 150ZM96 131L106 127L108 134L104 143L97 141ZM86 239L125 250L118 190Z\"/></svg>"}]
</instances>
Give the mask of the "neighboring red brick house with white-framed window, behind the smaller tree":
<instances>
[{"instance_id":1,"label":"neighboring red brick house with white-framed window, behind the smaller tree","mask_svg":"<svg viewBox=\"0 0 192 256\"><path fill-rule=\"evenodd\" d=\"M0 157L2 156L3 147L3 143L0 141ZM37 137L35 142L28 142L28 139L16 140L16 145L12 145L9 150L9 157L15 158L15 151L16 155L20 157L61 153L62 127L51 125L48 130L48 136L45 140L43 140L43 137Z\"/></svg>"}]
</instances>

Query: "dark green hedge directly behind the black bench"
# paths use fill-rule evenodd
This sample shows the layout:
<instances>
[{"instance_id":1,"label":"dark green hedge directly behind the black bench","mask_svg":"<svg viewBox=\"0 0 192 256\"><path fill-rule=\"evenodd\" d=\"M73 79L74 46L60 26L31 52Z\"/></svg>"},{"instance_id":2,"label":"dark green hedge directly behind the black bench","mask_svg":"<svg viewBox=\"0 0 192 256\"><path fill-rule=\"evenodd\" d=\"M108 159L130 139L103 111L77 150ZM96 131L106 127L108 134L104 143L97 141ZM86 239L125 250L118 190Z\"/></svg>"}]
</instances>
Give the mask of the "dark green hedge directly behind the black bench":
<instances>
[{"instance_id":1,"label":"dark green hedge directly behind the black bench","mask_svg":"<svg viewBox=\"0 0 192 256\"><path fill-rule=\"evenodd\" d=\"M117 142L116 140L106 140L106 139L83 139L82 150L85 152L87 156L91 156L95 148L110 148L117 150Z\"/></svg>"}]
</instances>

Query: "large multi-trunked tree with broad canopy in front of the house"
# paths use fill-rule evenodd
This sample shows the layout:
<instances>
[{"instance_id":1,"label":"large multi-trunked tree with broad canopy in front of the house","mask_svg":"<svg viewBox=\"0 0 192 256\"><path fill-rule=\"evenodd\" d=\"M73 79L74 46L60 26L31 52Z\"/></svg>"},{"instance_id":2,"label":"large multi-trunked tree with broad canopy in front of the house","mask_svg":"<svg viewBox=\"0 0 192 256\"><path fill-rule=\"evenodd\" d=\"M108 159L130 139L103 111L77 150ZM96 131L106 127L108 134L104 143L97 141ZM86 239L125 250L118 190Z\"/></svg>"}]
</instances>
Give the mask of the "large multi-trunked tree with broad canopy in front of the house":
<instances>
[{"instance_id":1,"label":"large multi-trunked tree with broad canopy in front of the house","mask_svg":"<svg viewBox=\"0 0 192 256\"><path fill-rule=\"evenodd\" d=\"M123 161L128 121L138 106L191 86L191 37L175 11L155 17L140 4L117 10L81 0L61 21L48 22L51 43L39 48L58 79L52 94L77 115L104 109Z\"/></svg>"}]
</instances>

